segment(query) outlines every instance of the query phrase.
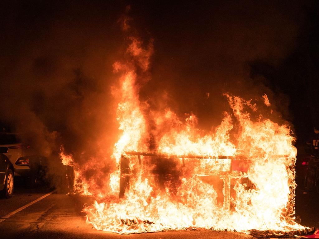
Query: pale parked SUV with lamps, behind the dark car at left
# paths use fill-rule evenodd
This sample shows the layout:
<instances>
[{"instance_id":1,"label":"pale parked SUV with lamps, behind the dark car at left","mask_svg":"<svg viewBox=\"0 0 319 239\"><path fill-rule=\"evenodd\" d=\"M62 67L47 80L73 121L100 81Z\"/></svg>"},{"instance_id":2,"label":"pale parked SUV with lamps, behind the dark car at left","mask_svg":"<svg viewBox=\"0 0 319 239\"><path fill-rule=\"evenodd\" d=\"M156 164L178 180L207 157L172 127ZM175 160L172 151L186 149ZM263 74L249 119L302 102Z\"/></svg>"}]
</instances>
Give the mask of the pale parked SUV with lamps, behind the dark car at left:
<instances>
[{"instance_id":1,"label":"pale parked SUV with lamps, behind the dark car at left","mask_svg":"<svg viewBox=\"0 0 319 239\"><path fill-rule=\"evenodd\" d=\"M4 153L13 164L14 176L23 178L28 186L35 186L43 177L46 159L39 156L30 146L21 141L17 133L0 133L0 147L8 148Z\"/></svg>"}]
</instances>

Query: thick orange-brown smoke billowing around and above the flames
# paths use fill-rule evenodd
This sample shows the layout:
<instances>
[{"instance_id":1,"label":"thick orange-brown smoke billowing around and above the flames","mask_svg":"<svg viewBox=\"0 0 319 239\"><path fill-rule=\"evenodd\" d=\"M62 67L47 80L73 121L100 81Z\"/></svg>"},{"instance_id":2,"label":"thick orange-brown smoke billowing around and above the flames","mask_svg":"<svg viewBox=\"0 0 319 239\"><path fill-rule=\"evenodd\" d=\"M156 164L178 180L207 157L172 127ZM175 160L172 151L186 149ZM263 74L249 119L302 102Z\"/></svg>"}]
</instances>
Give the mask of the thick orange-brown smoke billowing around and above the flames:
<instances>
[{"instance_id":1,"label":"thick orange-brown smoke billowing around and above the flames","mask_svg":"<svg viewBox=\"0 0 319 239\"><path fill-rule=\"evenodd\" d=\"M87 178L115 167L106 163L119 134L112 65L130 35L154 39L151 70L139 78L140 100L152 109L193 112L209 130L228 109L223 93L267 93L278 106L270 117L285 113L288 100L264 87L251 65L280 64L293 49L297 4L3 5L0 120L50 159L51 174L64 173L52 166L61 145L80 165L96 160Z\"/></svg>"}]
</instances>

